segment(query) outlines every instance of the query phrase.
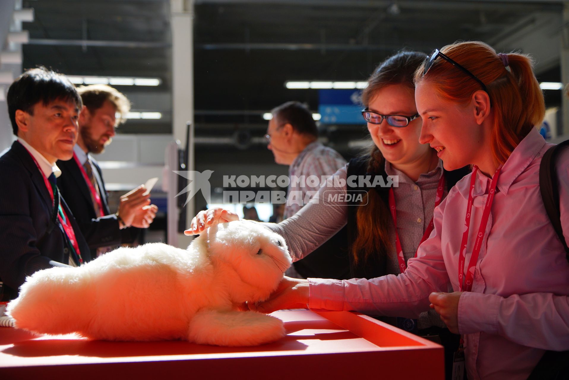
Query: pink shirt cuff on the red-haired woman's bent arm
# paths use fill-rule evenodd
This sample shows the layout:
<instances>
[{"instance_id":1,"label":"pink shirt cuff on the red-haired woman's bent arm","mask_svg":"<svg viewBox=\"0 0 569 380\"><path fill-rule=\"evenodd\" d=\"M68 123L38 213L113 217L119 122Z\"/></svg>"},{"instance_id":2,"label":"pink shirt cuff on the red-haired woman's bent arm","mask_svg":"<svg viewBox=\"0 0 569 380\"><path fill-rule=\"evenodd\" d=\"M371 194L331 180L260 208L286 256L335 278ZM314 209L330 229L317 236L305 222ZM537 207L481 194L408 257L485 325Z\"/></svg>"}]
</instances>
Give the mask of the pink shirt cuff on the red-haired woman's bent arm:
<instances>
[{"instance_id":1,"label":"pink shirt cuff on the red-haired woman's bent arm","mask_svg":"<svg viewBox=\"0 0 569 380\"><path fill-rule=\"evenodd\" d=\"M459 299L459 332L497 334L501 299L502 297L494 294L464 292Z\"/></svg>"}]
</instances>

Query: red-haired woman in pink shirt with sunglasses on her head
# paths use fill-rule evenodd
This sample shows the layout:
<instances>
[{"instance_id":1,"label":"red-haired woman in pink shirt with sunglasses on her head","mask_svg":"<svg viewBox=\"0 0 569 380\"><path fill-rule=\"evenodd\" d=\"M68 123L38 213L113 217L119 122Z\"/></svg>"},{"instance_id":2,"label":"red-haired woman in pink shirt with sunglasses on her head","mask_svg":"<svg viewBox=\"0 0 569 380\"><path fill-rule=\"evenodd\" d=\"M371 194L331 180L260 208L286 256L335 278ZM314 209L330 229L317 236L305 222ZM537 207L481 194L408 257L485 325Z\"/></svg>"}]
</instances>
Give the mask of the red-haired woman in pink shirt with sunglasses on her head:
<instances>
[{"instance_id":1,"label":"red-haired woman in pink shirt with sunglasses on her head","mask_svg":"<svg viewBox=\"0 0 569 380\"><path fill-rule=\"evenodd\" d=\"M551 144L535 128L545 104L531 60L481 42L455 43L418 68L415 84L420 142L448 170L473 167L435 209L417 258L398 276L284 279L270 300L251 308L307 303L413 317L430 306L461 334L469 379L567 378L569 262L539 189ZM569 150L557 162L569 242Z\"/></svg>"}]
</instances>

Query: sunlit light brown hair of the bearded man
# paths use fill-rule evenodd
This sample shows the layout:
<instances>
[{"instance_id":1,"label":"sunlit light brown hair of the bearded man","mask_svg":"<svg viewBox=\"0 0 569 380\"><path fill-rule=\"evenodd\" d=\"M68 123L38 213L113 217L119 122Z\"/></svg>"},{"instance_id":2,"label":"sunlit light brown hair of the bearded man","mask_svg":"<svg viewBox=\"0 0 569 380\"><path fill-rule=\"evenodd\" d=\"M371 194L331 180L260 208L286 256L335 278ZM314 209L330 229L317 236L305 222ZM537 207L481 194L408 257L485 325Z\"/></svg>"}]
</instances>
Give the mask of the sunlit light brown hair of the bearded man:
<instances>
[{"instance_id":1,"label":"sunlit light brown hair of the bearded man","mask_svg":"<svg viewBox=\"0 0 569 380\"><path fill-rule=\"evenodd\" d=\"M106 84L92 84L77 88L83 104L90 113L100 109L106 101L114 105L117 113L117 125L126 121L126 114L130 111L130 102L125 94Z\"/></svg>"}]
</instances>

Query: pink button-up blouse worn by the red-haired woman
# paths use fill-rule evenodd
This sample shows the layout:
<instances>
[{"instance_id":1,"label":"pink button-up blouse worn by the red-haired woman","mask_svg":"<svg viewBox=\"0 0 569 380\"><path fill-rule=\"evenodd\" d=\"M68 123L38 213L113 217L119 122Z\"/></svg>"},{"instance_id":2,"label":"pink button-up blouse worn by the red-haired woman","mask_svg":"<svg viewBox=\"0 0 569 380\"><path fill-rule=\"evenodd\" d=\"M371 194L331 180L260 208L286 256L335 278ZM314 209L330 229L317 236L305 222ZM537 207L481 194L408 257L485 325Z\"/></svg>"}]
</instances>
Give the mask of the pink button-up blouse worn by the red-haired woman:
<instances>
[{"instance_id":1,"label":"pink button-up blouse worn by the red-haired woman","mask_svg":"<svg viewBox=\"0 0 569 380\"><path fill-rule=\"evenodd\" d=\"M539 193L539 163L551 144L532 129L502 167L476 263L460 297L468 378L525 379L545 350L569 350L569 263ZM569 242L569 150L558 156L560 212ZM477 171L466 263L491 179ZM309 279L311 309L417 317L433 291L458 289L470 175L435 209L435 229L405 273L372 280Z\"/></svg>"}]
</instances>

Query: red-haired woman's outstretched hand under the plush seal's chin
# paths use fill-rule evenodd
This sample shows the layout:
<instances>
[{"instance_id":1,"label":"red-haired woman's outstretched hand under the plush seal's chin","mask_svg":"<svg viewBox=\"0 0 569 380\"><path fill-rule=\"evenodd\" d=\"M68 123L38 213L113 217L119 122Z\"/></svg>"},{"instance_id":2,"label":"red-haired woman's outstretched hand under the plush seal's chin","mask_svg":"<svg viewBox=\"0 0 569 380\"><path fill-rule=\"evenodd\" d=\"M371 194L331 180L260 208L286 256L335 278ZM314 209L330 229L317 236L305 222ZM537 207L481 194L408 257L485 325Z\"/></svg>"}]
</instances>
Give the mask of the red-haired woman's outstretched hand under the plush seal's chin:
<instances>
[{"instance_id":1,"label":"red-haired woman's outstretched hand under the plush seal's chin","mask_svg":"<svg viewBox=\"0 0 569 380\"><path fill-rule=\"evenodd\" d=\"M308 280L284 276L269 299L256 304L248 303L249 309L272 313L280 309L306 308L308 304Z\"/></svg>"}]
</instances>

